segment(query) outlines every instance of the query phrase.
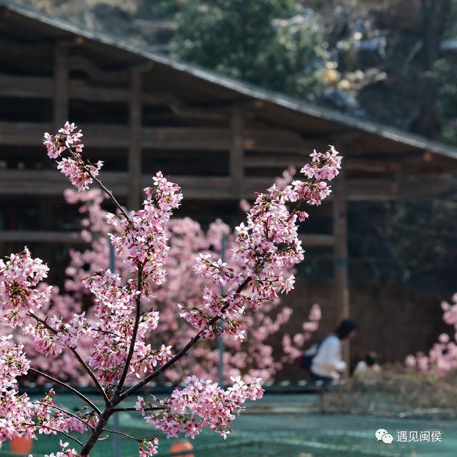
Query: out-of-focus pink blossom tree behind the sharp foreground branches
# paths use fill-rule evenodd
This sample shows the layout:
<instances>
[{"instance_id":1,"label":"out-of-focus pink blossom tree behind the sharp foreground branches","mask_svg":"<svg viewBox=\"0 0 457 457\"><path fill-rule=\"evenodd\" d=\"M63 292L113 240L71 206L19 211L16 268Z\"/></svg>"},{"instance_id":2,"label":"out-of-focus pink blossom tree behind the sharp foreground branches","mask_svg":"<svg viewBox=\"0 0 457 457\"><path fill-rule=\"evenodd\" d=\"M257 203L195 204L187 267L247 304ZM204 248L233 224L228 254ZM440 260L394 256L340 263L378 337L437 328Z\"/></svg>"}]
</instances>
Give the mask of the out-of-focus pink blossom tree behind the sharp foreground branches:
<instances>
[{"instance_id":1,"label":"out-of-focus pink blossom tree behind the sharp foreground branches","mask_svg":"<svg viewBox=\"0 0 457 457\"><path fill-rule=\"evenodd\" d=\"M278 184L279 180L276 181ZM290 184L290 183L288 183ZM70 251L70 263L66 268L67 280L64 293L56 293L51 299L51 309L64 318L70 318L74 313L86 311L87 318L93 318L94 308L87 306L90 303L89 291L82 285L82 280L88 274L95 273L101 268L106 268L109 263L109 237L108 233L114 227L106 224L107 211L103 204L108 199L100 189L89 191L73 191L67 189L66 201L70 204L79 204L79 211L84 215L81 220L83 229L81 236L84 241L90 242L89 248L82 251ZM192 263L199 252L211 253L216 261L221 256L221 251L230 252L234 246L234 238L230 228L222 221L210 224L205 232L200 224L189 218L171 219L167 226L169 238L169 253L167 258L167 279L164 283L156 285L151 283L154 295L154 306L160 311L161 318L154 331L153 338L159 339L166 346L182 346L191 338L194 328L179 318L179 308L176 303L191 306L199 300L201 291L210 288L215 293L220 290L211 280L201 275L192 273ZM224 245L224 246L223 246ZM230 256L227 263L232 268L241 268ZM129 271L118 263L116 268L121 278L128 278ZM56 288L54 288L56 289ZM311 322L303 323L303 333L298 333L294 342L303 342L311 337L311 333L318 328L320 314L316 314L317 305L311 311ZM261 377L263 381L271 381L274 375L281 370L284 361L293 361L293 358L281 358L273 353L273 347L268 342L276 334L281 326L291 316L291 308L281 306L281 299L265 303L256 313L243 313L240 316L241 324L246 329L248 337L243 341L234 338L224 338L224 381L228 383L232 376L241 376L244 381L250 378ZM316 316L318 318L316 319ZM16 339L26 345L21 333ZM81 355L89 353L91 346L82 342L79 346ZM294 347L290 342L284 345L283 350L287 353L301 354L301 349ZM74 358L69 357L65 351L58 358L51 360L33 349L29 349L28 355L34 360L34 365L42 371L51 374L66 374L69 379L79 378L80 382L89 381L86 373ZM180 381L190 373L196 376L218 376L219 350L211 341L199 341L194 351L186 358L182 358L179 367L169 368L164 376L171 381Z\"/></svg>"}]
</instances>

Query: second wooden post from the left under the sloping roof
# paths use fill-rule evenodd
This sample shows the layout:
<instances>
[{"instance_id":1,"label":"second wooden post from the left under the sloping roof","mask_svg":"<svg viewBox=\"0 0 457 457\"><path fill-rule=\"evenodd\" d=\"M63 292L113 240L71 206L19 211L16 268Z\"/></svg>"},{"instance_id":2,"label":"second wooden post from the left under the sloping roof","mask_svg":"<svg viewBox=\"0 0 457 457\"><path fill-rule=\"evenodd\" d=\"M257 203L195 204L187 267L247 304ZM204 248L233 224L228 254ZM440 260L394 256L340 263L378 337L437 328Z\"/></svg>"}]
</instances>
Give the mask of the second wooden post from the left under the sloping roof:
<instances>
[{"instance_id":1,"label":"second wooden post from the left under the sloping roof","mask_svg":"<svg viewBox=\"0 0 457 457\"><path fill-rule=\"evenodd\" d=\"M129 209L137 210L141 192L141 70L131 70L129 106Z\"/></svg>"}]
</instances>

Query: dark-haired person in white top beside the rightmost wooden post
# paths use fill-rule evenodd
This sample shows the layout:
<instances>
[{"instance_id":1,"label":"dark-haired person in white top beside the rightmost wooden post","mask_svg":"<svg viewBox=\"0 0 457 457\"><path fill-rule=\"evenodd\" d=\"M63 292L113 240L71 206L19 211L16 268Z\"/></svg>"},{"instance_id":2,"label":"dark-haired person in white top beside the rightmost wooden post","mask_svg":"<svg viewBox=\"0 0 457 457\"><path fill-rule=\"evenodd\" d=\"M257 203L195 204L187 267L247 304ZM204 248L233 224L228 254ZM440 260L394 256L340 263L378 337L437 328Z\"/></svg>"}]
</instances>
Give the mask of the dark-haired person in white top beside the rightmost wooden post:
<instances>
[{"instance_id":1,"label":"dark-haired person in white top beside the rightmost wooden post","mask_svg":"<svg viewBox=\"0 0 457 457\"><path fill-rule=\"evenodd\" d=\"M338 328L321 341L311 362L311 379L314 382L330 383L340 377L346 369L341 360L341 342L351 340L357 331L357 324L351 319L341 321Z\"/></svg>"}]
</instances>

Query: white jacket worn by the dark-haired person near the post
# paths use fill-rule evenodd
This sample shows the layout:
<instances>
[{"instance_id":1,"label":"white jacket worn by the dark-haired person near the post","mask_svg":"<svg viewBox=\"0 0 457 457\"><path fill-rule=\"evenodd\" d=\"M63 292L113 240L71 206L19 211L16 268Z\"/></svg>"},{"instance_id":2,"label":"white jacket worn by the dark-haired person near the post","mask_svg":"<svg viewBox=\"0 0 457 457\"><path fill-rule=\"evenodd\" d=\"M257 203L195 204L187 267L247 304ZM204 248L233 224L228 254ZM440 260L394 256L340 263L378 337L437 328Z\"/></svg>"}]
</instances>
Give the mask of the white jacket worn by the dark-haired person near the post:
<instances>
[{"instance_id":1,"label":"white jacket worn by the dark-haired person near the post","mask_svg":"<svg viewBox=\"0 0 457 457\"><path fill-rule=\"evenodd\" d=\"M346 362L341 360L341 341L336 335L328 335L319 346L316 356L311 363L311 371L318 376L339 378L339 372L344 371Z\"/></svg>"}]
</instances>

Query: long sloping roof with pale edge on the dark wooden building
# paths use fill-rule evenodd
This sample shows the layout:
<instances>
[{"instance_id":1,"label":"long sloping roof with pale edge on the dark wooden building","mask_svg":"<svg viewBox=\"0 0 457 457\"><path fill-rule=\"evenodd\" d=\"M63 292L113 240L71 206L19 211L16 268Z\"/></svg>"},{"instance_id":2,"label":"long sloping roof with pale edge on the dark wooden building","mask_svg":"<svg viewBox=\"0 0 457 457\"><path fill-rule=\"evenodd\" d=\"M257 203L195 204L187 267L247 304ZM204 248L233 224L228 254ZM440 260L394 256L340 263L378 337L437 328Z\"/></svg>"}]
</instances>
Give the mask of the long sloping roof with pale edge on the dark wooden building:
<instances>
[{"instance_id":1,"label":"long sloping roof with pale edge on the dark wooden building","mask_svg":"<svg viewBox=\"0 0 457 457\"><path fill-rule=\"evenodd\" d=\"M339 140L346 143L354 136L356 142L353 144L358 149L358 155L395 160L396 155L392 153L414 154L423 161L422 173L449 171L455 167L452 159L457 159L457 149L446 144L266 91L24 6L0 0L0 11L8 16L11 34L15 33L16 25L19 30L26 27L26 40L30 43L37 37L74 39L75 43L92 53L101 66L112 71L131 65L149 65L144 78L146 89L160 91L166 84L167 91L173 91L186 105L209 110L214 106L223 109L236 103L251 111L253 121L267 126L269 123L282 124L311 141L337 143ZM24 39L24 34L21 34ZM39 60L39 53L36 59Z\"/></svg>"}]
</instances>

